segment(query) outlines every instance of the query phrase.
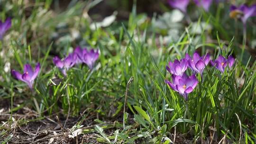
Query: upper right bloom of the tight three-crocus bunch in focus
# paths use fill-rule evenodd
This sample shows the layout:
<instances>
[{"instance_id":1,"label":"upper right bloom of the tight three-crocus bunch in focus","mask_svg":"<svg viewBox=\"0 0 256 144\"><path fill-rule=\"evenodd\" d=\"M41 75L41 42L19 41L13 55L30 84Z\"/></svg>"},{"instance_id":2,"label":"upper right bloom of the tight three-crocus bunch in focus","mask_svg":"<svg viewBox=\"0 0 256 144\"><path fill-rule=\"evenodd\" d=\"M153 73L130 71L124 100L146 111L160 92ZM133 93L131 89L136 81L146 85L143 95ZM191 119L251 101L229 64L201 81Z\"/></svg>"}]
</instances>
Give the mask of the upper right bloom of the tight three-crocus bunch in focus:
<instances>
[{"instance_id":1,"label":"upper right bloom of the tight three-crocus bunch in focus","mask_svg":"<svg viewBox=\"0 0 256 144\"><path fill-rule=\"evenodd\" d=\"M189 67L192 71L202 74L203 69L210 61L210 54L201 57L198 53L194 53L193 58L191 58L189 54L185 54L185 59L188 60Z\"/></svg>"}]
</instances>

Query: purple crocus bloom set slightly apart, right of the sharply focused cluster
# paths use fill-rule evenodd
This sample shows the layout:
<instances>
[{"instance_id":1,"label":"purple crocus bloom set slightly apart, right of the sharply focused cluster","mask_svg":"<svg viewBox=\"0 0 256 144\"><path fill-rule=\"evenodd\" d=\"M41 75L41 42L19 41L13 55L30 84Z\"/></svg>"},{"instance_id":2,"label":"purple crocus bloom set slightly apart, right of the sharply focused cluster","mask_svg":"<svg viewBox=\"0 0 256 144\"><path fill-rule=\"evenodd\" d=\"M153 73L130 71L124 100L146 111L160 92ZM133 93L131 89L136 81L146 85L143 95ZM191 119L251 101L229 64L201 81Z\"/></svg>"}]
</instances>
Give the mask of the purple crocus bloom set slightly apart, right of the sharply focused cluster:
<instances>
[{"instance_id":1,"label":"purple crocus bloom set slightly apart, right of the sharply focused cluster","mask_svg":"<svg viewBox=\"0 0 256 144\"><path fill-rule=\"evenodd\" d=\"M216 59L214 62L211 61L211 64L222 73L225 71L227 65L229 65L229 68L231 68L234 63L235 59L231 55L228 57L228 59L225 59L222 55L219 55L218 59Z\"/></svg>"}]
</instances>

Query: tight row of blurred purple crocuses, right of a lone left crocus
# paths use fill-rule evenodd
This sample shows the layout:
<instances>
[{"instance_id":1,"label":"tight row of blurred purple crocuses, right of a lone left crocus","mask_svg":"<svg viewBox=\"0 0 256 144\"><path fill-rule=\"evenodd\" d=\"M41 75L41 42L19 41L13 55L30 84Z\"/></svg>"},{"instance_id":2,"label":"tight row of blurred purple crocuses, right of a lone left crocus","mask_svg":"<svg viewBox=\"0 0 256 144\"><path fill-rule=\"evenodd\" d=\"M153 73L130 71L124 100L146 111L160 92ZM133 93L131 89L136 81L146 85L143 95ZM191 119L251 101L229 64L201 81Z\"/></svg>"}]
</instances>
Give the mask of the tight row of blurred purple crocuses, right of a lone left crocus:
<instances>
[{"instance_id":1,"label":"tight row of blurred purple crocuses, right of a lone left crocus","mask_svg":"<svg viewBox=\"0 0 256 144\"><path fill-rule=\"evenodd\" d=\"M58 67L64 75L67 75L66 71L73 67L75 64L85 63L90 69L93 68L95 61L99 58L99 51L77 46L73 53L69 54L63 60L58 56L53 59L54 64Z\"/></svg>"}]
</instances>

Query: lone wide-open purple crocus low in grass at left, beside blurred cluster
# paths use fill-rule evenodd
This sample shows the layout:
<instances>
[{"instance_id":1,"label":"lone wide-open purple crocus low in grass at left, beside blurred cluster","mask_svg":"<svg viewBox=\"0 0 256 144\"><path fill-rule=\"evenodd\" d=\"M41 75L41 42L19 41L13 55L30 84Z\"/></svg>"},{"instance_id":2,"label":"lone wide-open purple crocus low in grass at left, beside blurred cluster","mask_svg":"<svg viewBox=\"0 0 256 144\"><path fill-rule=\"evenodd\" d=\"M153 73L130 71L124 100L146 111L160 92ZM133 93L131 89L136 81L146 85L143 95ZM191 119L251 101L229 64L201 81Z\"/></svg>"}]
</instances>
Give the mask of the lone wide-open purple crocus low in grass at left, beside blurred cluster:
<instances>
[{"instance_id":1,"label":"lone wide-open purple crocus low in grass at left, beside blurred cluster","mask_svg":"<svg viewBox=\"0 0 256 144\"><path fill-rule=\"evenodd\" d=\"M32 90L34 80L37 78L39 71L40 71L40 63L37 63L35 67L35 71L33 70L30 64L25 64L23 74L15 70L11 70L11 74L14 78L18 79L19 81L26 82L28 87Z\"/></svg>"}]
</instances>

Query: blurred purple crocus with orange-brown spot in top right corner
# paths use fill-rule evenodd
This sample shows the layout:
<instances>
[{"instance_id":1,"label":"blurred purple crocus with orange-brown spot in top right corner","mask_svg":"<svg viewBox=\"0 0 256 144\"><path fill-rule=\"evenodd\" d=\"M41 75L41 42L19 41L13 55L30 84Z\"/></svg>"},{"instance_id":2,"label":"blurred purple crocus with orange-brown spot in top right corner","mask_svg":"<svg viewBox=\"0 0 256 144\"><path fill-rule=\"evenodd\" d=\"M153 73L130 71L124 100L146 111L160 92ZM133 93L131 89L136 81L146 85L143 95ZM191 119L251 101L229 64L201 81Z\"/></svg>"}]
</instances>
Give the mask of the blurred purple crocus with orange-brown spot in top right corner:
<instances>
[{"instance_id":1,"label":"blurred purple crocus with orange-brown spot in top right corner","mask_svg":"<svg viewBox=\"0 0 256 144\"><path fill-rule=\"evenodd\" d=\"M256 5L252 5L250 7L245 4L239 7L232 5L230 7L229 15L231 18L241 18L242 22L245 25L248 18L256 16Z\"/></svg>"}]
</instances>

